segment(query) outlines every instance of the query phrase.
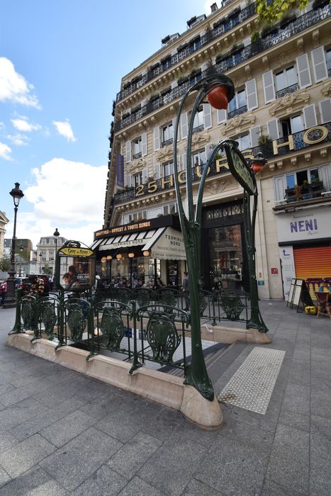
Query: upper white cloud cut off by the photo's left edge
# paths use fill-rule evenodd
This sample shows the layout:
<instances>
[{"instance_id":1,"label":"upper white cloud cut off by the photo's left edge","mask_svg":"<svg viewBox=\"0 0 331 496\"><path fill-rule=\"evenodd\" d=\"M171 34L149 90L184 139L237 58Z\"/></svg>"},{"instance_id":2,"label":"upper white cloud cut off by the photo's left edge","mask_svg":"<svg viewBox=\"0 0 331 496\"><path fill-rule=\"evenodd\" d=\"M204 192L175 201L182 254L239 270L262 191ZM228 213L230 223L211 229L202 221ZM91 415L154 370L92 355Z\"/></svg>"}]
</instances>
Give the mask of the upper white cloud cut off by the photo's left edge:
<instances>
[{"instance_id":1,"label":"upper white cloud cut off by the photo's left edge","mask_svg":"<svg viewBox=\"0 0 331 496\"><path fill-rule=\"evenodd\" d=\"M0 57L0 101L13 101L21 105L40 108L33 85L16 72L13 62Z\"/></svg>"}]
</instances>

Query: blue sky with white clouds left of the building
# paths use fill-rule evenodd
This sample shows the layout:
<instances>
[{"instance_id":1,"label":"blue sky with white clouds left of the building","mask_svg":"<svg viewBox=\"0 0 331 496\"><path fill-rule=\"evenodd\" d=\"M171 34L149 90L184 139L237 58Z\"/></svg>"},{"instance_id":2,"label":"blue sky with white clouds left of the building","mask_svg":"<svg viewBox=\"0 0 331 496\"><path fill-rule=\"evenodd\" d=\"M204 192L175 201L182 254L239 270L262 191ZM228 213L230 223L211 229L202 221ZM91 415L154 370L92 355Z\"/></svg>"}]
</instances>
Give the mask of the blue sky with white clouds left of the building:
<instances>
[{"instance_id":1,"label":"blue sky with white clouds left of the building","mask_svg":"<svg viewBox=\"0 0 331 496\"><path fill-rule=\"evenodd\" d=\"M55 227L86 244L103 225L120 80L213 0L0 0L0 210L33 247ZM218 1L220 6L220 1Z\"/></svg>"}]
</instances>

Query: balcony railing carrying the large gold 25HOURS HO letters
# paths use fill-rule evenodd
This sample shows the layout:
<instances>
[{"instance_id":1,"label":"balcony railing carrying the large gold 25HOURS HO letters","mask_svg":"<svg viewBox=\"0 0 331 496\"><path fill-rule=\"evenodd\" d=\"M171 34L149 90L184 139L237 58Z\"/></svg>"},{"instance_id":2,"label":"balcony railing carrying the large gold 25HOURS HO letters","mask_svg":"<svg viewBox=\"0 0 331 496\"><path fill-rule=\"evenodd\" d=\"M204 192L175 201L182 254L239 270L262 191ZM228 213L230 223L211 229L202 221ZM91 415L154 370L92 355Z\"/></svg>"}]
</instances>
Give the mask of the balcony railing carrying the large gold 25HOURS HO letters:
<instances>
[{"instance_id":1,"label":"balcony railing carrying the large gold 25HOURS HO letters","mask_svg":"<svg viewBox=\"0 0 331 496\"><path fill-rule=\"evenodd\" d=\"M278 146L277 157L291 152L296 152L297 150L302 150L303 148L311 147L313 146L314 140L316 140L316 142L318 143L331 142L331 122L324 123L322 124L322 126L327 128L327 133L325 133L325 137L322 141L318 141L323 135L323 130L320 129L320 126L315 126L314 128L311 128L311 130L303 130L300 131L300 133L293 134L292 135L293 150L289 149L288 136L281 137L279 138L279 140L276 140L276 145ZM283 145L283 143L284 146L281 146ZM252 154L254 157L256 157L259 152L261 152L263 156L267 159L268 158L270 159L271 157L275 156L272 142L266 143L265 145L261 145L259 147L252 148L252 153L249 150L249 154ZM244 154L245 154L245 150L244 150ZM228 169L225 167L225 164L226 164L226 159L224 159L224 171L228 171ZM191 167L192 181L199 181L201 179L203 166L204 164L200 164L200 165L195 164L193 167ZM216 166L216 162L213 162L213 164L211 164L208 177L215 176L217 174L220 174L220 167L219 165ZM186 171L181 171L181 181L185 181L185 180L186 180ZM155 179L153 181L149 181L145 184L140 184L138 188L139 188L138 191L139 194L137 194L136 188L128 188L128 190L126 191L115 193L113 203L115 205L118 205L120 203L126 203L128 201L132 201L135 198L139 198L140 196L147 195L148 193L157 193L157 191L174 188L174 179L173 176L170 175L167 177L163 177L161 179ZM315 194L319 194L319 196L322 196L322 191L320 191L319 193L315 191Z\"/></svg>"}]
</instances>

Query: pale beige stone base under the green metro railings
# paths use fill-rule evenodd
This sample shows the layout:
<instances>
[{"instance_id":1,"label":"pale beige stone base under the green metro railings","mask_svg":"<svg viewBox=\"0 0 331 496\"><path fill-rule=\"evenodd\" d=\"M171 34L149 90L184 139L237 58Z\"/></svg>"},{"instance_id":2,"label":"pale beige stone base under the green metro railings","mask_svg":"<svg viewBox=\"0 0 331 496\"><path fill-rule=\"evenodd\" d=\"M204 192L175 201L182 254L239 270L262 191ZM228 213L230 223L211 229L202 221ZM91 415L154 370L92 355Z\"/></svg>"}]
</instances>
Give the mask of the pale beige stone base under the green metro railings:
<instances>
[{"instance_id":1,"label":"pale beige stone base under the green metro railings","mask_svg":"<svg viewBox=\"0 0 331 496\"><path fill-rule=\"evenodd\" d=\"M222 411L216 398L213 401L206 400L191 385L184 385L183 378L147 367L138 368L130 374L130 363L103 355L95 355L86 361L88 351L72 346L62 346L55 351L55 342L38 339L31 343L31 339L29 334L11 334L6 345L179 410L186 419L202 429L214 430L223 424Z\"/></svg>"}]
</instances>

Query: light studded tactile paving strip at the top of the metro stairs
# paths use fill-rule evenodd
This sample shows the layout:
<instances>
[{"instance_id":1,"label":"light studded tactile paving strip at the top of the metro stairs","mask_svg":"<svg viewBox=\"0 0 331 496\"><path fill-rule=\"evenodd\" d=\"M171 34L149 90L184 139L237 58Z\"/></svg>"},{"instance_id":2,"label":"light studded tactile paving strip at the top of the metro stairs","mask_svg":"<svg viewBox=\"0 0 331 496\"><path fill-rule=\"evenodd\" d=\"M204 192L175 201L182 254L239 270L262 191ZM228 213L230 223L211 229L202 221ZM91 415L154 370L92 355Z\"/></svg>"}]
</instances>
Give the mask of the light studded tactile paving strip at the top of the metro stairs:
<instances>
[{"instance_id":1,"label":"light studded tactile paving strip at the top of the metro stairs","mask_svg":"<svg viewBox=\"0 0 331 496\"><path fill-rule=\"evenodd\" d=\"M265 415L285 351L255 346L218 400Z\"/></svg>"}]
</instances>

